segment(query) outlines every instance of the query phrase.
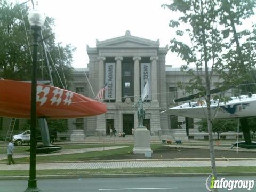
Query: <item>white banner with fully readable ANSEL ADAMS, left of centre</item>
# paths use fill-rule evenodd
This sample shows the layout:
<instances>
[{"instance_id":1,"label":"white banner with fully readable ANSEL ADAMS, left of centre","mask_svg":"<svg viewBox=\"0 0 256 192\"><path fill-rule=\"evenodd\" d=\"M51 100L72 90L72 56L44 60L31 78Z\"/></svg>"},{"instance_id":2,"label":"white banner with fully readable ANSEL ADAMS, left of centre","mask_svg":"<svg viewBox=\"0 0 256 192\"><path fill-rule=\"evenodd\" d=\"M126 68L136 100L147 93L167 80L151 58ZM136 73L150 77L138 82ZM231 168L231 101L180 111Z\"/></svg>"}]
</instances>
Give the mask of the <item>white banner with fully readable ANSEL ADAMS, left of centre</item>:
<instances>
[{"instance_id":1,"label":"white banner with fully readable ANSEL ADAMS, left of centre","mask_svg":"<svg viewBox=\"0 0 256 192\"><path fill-rule=\"evenodd\" d=\"M105 99L116 99L116 63L105 63Z\"/></svg>"}]
</instances>

